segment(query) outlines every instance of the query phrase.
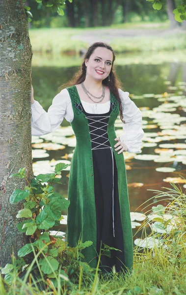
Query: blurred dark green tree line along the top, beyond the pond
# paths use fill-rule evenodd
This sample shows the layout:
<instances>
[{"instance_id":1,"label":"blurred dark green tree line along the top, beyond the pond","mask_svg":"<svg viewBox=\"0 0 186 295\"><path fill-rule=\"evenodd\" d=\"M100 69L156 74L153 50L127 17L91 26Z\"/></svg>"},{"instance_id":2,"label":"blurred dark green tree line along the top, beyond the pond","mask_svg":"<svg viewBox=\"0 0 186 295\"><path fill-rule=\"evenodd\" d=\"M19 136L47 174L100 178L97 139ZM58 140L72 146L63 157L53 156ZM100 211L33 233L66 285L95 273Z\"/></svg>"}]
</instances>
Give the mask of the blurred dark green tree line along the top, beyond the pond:
<instances>
[{"instance_id":1,"label":"blurred dark green tree line along the top, beyond the pond","mask_svg":"<svg viewBox=\"0 0 186 295\"><path fill-rule=\"evenodd\" d=\"M119 23L131 22L133 16L139 16L141 21L165 21L170 20L170 28L179 26L172 12L175 7L180 6L181 0L73 0L66 1L62 14L58 16L58 11L48 7L48 0L27 0L27 6L30 6L33 13L31 26L39 27L99 27L110 26L114 22L118 24L117 15L120 15ZM161 4L164 3L163 4ZM153 11L153 7L156 10ZM159 9L159 7L162 7ZM183 24L184 26L185 21Z\"/></svg>"}]
</instances>

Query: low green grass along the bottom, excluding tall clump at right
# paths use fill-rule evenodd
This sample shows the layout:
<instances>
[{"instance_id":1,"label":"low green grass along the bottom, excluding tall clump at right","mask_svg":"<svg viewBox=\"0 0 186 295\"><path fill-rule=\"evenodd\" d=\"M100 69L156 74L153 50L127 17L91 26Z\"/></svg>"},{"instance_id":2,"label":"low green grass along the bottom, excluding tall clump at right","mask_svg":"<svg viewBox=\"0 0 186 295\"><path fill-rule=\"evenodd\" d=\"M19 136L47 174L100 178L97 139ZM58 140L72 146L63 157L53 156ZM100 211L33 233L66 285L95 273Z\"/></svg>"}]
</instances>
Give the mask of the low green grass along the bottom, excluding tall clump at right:
<instances>
[{"instance_id":1,"label":"low green grass along the bottom, excluding tall clump at right","mask_svg":"<svg viewBox=\"0 0 186 295\"><path fill-rule=\"evenodd\" d=\"M185 295L186 294L186 256L182 256L183 264L178 266L168 261L164 249L155 250L154 257L136 257L133 273L124 278L122 275L113 274L107 278L95 280L95 285L87 283L85 286L74 285L68 291L64 286L53 288L49 292L41 290L42 281L37 282L31 274L27 282L17 278L9 287L0 280L1 295ZM50 283L48 282L50 285ZM63 288L61 288L63 287ZM66 291L65 291L66 289ZM3 290L6 292L3 293ZM90 292L90 293L88 293Z\"/></svg>"}]
</instances>

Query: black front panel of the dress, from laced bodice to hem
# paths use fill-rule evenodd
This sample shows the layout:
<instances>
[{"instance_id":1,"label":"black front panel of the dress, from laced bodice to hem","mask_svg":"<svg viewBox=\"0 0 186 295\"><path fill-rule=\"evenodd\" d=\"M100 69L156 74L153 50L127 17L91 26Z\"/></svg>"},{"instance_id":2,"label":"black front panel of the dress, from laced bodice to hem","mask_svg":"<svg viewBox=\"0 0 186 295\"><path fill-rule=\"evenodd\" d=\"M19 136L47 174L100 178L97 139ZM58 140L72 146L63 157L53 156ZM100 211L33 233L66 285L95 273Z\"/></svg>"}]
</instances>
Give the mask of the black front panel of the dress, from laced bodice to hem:
<instances>
[{"instance_id":1,"label":"black front panel of the dress, from laced bodice to hem","mask_svg":"<svg viewBox=\"0 0 186 295\"><path fill-rule=\"evenodd\" d=\"M99 122L99 117L109 116L111 113L111 107L108 113L105 114L89 114L83 109L83 113L87 116L90 124L90 132L95 130L95 127L101 127L93 131L91 140L98 135L105 133L107 126L103 127L103 124ZM97 121L92 124L90 117L94 117ZM102 122L108 123L109 118L104 118ZM95 135L96 134L96 135ZM104 135L107 137L107 134ZM108 137L107 137L108 138ZM106 139L100 137L96 139L98 143L104 143ZM109 141L106 145L110 146ZM96 144L92 142L92 148L95 148ZM104 146L103 146L104 147ZM123 231L121 224L120 205L119 205L119 193L118 193L118 175L116 161L113 154L114 161L114 232L113 236L113 219L112 219L112 153L110 148L93 149L93 172L94 172L94 192L95 192L95 206L96 206L96 223L97 223L97 255L99 256L100 247L103 249L104 244L120 249L121 251L110 250L110 256L101 255L99 268L103 273L111 272L112 266L115 265L117 272L122 271L124 267L124 244L123 244ZM102 250L103 251L103 250ZM102 252L103 253L103 252ZM97 263L98 263L97 256Z\"/></svg>"}]
</instances>

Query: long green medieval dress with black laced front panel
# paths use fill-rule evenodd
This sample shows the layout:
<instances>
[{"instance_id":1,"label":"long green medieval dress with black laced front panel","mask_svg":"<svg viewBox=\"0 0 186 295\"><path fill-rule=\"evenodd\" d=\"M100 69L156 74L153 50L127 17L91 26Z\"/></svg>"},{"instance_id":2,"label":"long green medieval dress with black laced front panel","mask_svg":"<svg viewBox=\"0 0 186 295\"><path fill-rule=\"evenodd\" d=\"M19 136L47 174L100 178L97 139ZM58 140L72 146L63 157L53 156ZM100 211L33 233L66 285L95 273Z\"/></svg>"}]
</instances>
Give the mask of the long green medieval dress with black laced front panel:
<instances>
[{"instance_id":1,"label":"long green medieval dress with black laced front panel","mask_svg":"<svg viewBox=\"0 0 186 295\"><path fill-rule=\"evenodd\" d=\"M110 272L133 267L133 236L126 168L123 153L118 154L114 122L119 104L110 91L110 110L104 114L86 113L76 86L67 88L74 112L71 122L77 145L73 154L67 213L67 241L76 247L79 239L93 244L82 250L85 261L96 267L100 247L111 250L101 256L100 268Z\"/></svg>"}]
</instances>

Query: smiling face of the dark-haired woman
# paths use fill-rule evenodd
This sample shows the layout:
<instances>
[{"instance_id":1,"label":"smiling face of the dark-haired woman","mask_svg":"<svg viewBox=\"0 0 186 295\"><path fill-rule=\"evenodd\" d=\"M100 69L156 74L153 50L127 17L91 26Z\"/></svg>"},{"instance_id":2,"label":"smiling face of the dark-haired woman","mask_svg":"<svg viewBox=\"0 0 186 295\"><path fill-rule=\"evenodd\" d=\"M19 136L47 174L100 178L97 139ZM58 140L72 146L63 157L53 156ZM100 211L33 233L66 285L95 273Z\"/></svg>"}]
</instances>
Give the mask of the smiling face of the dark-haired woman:
<instances>
[{"instance_id":1,"label":"smiling face of the dark-haired woman","mask_svg":"<svg viewBox=\"0 0 186 295\"><path fill-rule=\"evenodd\" d=\"M104 80L112 67L112 52L105 47L97 47L89 59L85 59L87 75L96 80Z\"/></svg>"}]
</instances>

